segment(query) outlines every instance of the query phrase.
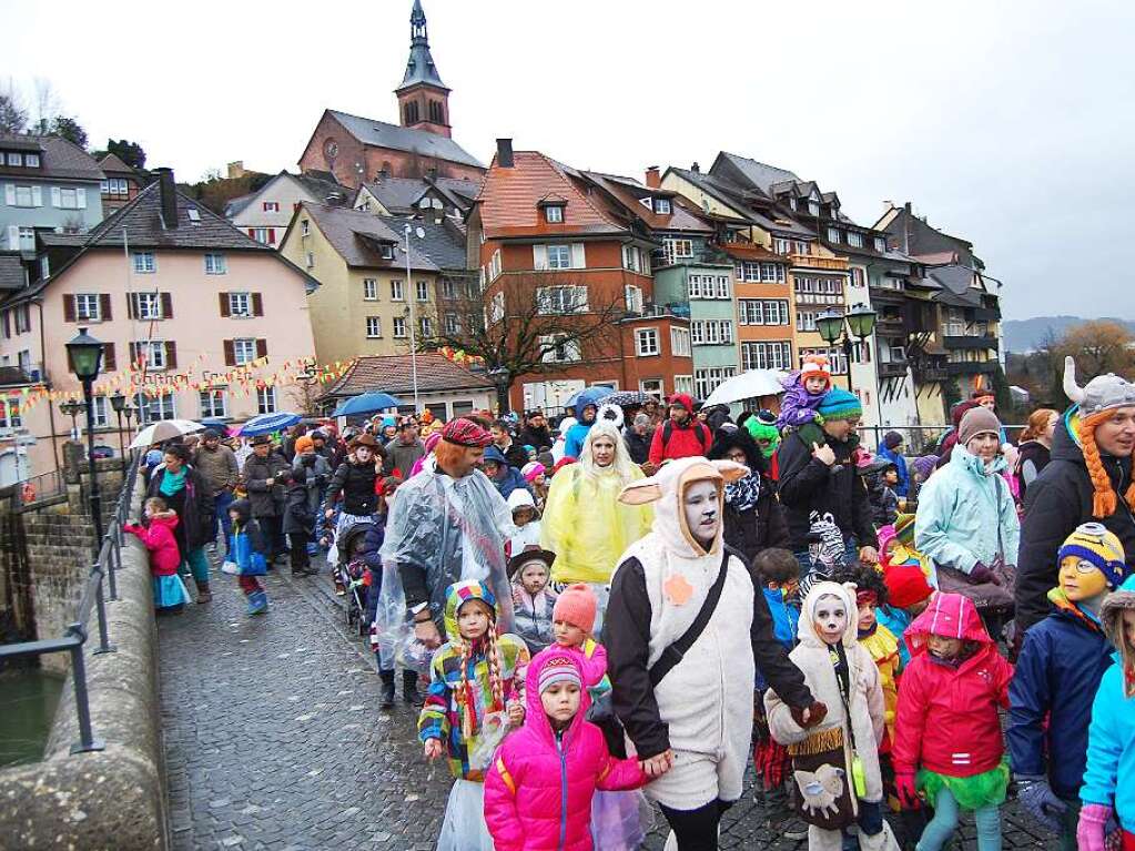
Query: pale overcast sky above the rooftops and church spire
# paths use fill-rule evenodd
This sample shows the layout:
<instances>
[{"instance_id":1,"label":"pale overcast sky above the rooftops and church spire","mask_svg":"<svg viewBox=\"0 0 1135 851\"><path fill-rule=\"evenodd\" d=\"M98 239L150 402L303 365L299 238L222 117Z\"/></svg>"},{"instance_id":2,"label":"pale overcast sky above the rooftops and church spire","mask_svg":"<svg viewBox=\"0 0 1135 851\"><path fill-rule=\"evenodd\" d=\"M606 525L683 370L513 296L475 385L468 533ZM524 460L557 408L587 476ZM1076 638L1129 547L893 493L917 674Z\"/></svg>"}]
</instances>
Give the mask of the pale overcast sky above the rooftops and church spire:
<instances>
[{"instance_id":1,"label":"pale overcast sky above the rooftops and church spire","mask_svg":"<svg viewBox=\"0 0 1135 851\"><path fill-rule=\"evenodd\" d=\"M1135 319L1135 3L423 0L454 137L641 178L718 150L913 201L1007 318ZM0 75L178 179L295 169L325 108L397 121L411 0L0 0ZM11 37L15 36L15 37Z\"/></svg>"}]
</instances>

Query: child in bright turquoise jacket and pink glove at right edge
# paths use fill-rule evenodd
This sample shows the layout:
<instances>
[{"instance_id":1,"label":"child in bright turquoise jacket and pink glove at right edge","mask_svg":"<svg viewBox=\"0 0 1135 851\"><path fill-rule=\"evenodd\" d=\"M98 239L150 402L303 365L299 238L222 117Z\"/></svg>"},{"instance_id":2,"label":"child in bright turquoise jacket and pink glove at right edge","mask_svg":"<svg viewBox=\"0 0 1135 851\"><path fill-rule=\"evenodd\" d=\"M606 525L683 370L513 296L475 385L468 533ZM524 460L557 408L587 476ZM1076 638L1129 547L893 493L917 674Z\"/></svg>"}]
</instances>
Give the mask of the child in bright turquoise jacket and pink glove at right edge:
<instances>
[{"instance_id":1,"label":"child in bright turquoise jacket and pink glove at right edge","mask_svg":"<svg viewBox=\"0 0 1135 851\"><path fill-rule=\"evenodd\" d=\"M1079 791L1078 848L1103 851L1111 818L1123 851L1135 849L1135 581L1108 595L1100 621L1116 647L1103 674L1087 731L1087 770Z\"/></svg>"}]
</instances>

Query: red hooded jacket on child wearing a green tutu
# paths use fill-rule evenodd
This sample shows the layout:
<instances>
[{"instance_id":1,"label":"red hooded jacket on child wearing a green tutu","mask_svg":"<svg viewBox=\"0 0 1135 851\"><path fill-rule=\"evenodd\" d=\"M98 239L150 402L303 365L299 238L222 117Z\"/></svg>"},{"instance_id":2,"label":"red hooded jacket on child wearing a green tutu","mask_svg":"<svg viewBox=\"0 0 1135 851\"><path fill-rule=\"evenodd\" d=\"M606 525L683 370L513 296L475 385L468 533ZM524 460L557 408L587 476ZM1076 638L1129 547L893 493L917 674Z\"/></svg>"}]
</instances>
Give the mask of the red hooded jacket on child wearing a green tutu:
<instances>
[{"instance_id":1,"label":"red hooded jacket on child wearing a green tutu","mask_svg":"<svg viewBox=\"0 0 1135 851\"><path fill-rule=\"evenodd\" d=\"M977 641L981 649L955 668L927 652L931 632ZM998 654L974 604L961 595L935 593L906 635L913 658L899 681L894 770L920 765L970 777L995 768L1004 753L997 709L1009 707L1012 665Z\"/></svg>"}]
</instances>

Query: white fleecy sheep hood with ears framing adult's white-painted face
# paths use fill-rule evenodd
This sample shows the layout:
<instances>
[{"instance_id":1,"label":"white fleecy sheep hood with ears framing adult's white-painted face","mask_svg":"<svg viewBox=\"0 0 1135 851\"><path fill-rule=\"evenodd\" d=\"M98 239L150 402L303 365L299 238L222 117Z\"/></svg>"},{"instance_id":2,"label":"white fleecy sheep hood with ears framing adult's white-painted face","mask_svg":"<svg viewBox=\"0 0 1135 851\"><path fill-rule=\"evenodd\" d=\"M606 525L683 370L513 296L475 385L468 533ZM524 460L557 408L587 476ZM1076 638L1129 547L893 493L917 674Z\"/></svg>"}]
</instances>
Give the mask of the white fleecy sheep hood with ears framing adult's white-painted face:
<instances>
[{"instance_id":1,"label":"white fleecy sheep hood with ears framing adult's white-painted face","mask_svg":"<svg viewBox=\"0 0 1135 851\"><path fill-rule=\"evenodd\" d=\"M697 541L686 523L682 498L686 489L696 481L713 481L717 486L717 504L721 505L725 485L749 474L749 467L733 461L707 461L703 457L679 458L663 465L662 470L648 479L639 479L623 488L619 502L627 505L656 503L653 530L667 548L686 557L700 557L707 550ZM709 554L721 551L724 519L717 524L717 536Z\"/></svg>"}]
</instances>

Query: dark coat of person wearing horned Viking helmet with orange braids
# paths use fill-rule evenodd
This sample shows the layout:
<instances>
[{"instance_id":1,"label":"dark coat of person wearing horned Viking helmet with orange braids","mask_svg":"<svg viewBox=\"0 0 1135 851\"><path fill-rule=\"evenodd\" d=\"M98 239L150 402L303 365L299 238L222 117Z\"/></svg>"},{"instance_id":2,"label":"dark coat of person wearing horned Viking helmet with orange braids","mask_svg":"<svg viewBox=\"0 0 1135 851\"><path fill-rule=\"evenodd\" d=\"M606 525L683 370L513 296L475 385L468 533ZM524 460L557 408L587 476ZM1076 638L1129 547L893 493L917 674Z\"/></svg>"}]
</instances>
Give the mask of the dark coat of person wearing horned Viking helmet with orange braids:
<instances>
[{"instance_id":1,"label":"dark coat of person wearing horned Viking helmet with orange braids","mask_svg":"<svg viewBox=\"0 0 1135 851\"><path fill-rule=\"evenodd\" d=\"M1119 505L1110 517L1092 516L1092 480L1084 454L1061 419L1052 439L1052 460L1028 488L1017 557L1017 626L1027 630L1049 614L1048 592L1057 585L1057 550L1081 523L1100 522L1124 545L1128 567L1135 568L1135 515L1123 494L1132 483L1130 458L1100 455Z\"/></svg>"}]
</instances>

